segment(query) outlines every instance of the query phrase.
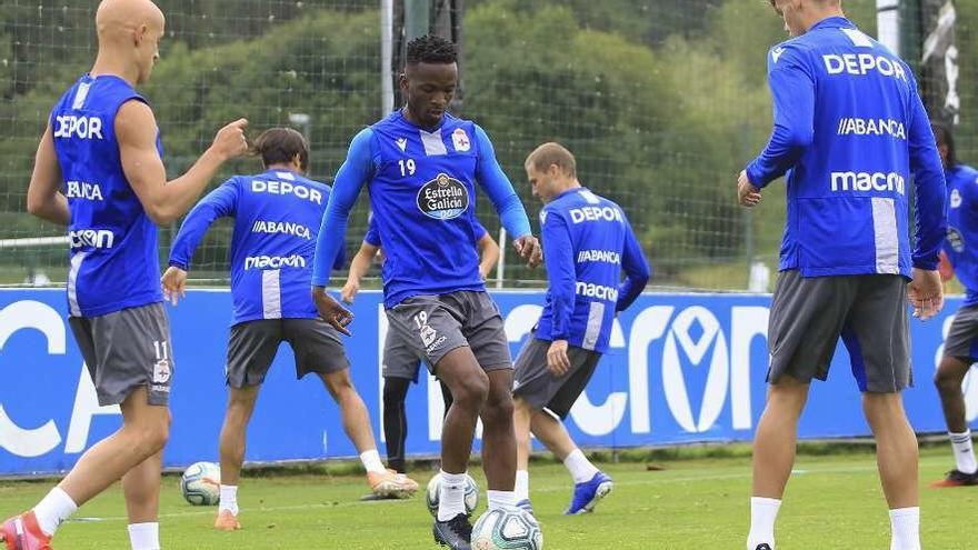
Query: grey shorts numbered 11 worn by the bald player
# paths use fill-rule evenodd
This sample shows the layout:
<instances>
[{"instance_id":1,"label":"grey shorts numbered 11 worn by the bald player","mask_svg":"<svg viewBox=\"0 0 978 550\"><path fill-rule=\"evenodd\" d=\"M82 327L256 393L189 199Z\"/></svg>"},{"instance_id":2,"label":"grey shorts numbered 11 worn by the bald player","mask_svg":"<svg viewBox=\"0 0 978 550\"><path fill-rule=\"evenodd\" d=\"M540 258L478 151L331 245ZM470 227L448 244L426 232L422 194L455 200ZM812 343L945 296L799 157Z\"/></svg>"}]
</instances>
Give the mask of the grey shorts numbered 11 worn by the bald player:
<instances>
[{"instance_id":1,"label":"grey shorts numbered 11 worn by the bald player","mask_svg":"<svg viewBox=\"0 0 978 550\"><path fill-rule=\"evenodd\" d=\"M170 321L162 303L99 317L69 317L68 323L88 364L99 404L119 404L138 388L147 402L166 407L173 381Z\"/></svg>"}]
</instances>

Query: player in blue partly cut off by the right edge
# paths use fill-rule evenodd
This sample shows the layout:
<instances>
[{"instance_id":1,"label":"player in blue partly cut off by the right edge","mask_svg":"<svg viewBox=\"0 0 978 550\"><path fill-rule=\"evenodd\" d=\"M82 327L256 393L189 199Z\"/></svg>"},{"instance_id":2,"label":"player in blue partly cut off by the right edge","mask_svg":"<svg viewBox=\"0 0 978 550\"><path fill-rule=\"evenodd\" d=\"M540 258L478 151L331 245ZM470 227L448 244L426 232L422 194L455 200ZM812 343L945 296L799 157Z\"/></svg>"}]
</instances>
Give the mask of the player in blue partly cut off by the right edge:
<instances>
[{"instance_id":1,"label":"player in blue partly cut off by the right edge","mask_svg":"<svg viewBox=\"0 0 978 550\"><path fill-rule=\"evenodd\" d=\"M975 486L978 463L965 419L961 382L971 363L978 361L978 170L958 162L948 127L935 124L934 136L948 188L948 232L941 253L941 276L950 279L957 273L968 293L955 313L934 377L955 453L955 469L931 487Z\"/></svg>"}]
</instances>

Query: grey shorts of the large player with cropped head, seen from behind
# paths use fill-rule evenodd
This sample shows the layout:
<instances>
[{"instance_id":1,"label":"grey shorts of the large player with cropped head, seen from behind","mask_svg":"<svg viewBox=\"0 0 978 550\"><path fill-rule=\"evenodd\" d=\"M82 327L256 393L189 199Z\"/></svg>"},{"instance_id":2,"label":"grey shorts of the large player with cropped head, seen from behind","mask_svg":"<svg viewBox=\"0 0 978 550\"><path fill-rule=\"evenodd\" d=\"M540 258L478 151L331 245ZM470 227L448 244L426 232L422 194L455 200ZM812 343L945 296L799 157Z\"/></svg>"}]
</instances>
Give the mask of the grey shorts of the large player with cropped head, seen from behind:
<instances>
[{"instance_id":1,"label":"grey shorts of the large player with cropped head, seen from behind","mask_svg":"<svg viewBox=\"0 0 978 550\"><path fill-rule=\"evenodd\" d=\"M839 338L860 391L892 393L914 384L907 280L896 274L778 274L768 327L768 381L825 380Z\"/></svg>"}]
</instances>

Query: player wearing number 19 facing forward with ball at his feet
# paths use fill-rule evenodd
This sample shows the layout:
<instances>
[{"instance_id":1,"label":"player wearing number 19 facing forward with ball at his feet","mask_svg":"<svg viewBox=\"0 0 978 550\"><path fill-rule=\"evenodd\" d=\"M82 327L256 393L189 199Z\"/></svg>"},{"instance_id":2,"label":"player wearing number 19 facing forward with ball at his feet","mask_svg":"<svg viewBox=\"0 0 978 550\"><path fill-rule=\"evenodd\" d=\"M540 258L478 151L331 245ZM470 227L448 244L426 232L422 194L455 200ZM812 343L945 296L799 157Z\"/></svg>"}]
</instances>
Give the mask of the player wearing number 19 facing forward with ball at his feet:
<instances>
[{"instance_id":1,"label":"player wearing number 19 facing forward with ball at his feet","mask_svg":"<svg viewBox=\"0 0 978 550\"><path fill-rule=\"evenodd\" d=\"M387 256L383 296L390 326L435 367L455 400L442 428L435 539L468 549L465 473L480 416L490 508L515 503L516 474L509 343L476 250L468 244L475 240L476 182L531 266L540 261L540 246L486 132L446 113L458 84L456 58L455 46L438 37L408 43L400 78L407 104L353 138L322 220L312 284L319 313L346 331L352 317L325 286L350 209L369 183Z\"/></svg>"}]
</instances>

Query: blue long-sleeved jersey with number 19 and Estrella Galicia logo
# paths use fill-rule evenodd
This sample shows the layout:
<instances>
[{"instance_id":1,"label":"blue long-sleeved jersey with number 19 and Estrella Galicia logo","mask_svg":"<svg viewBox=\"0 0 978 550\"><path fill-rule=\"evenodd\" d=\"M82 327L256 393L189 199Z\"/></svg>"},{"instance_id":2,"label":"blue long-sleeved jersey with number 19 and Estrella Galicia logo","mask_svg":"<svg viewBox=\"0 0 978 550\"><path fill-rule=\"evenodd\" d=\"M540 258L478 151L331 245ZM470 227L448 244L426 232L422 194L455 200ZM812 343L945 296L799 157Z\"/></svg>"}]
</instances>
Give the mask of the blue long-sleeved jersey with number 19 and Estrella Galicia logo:
<instances>
[{"instance_id":1,"label":"blue long-sleeved jersey with number 19 and Estrella Galicia logo","mask_svg":"<svg viewBox=\"0 0 978 550\"><path fill-rule=\"evenodd\" d=\"M531 234L492 143L473 122L446 113L437 127L421 128L399 110L362 130L333 182L312 283L329 282L350 209L367 184L387 257L381 268L387 308L419 294L485 291L475 247L458 246L476 240L476 183L513 238Z\"/></svg>"}]
</instances>

